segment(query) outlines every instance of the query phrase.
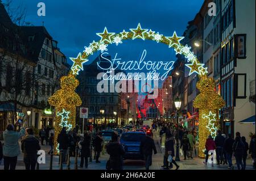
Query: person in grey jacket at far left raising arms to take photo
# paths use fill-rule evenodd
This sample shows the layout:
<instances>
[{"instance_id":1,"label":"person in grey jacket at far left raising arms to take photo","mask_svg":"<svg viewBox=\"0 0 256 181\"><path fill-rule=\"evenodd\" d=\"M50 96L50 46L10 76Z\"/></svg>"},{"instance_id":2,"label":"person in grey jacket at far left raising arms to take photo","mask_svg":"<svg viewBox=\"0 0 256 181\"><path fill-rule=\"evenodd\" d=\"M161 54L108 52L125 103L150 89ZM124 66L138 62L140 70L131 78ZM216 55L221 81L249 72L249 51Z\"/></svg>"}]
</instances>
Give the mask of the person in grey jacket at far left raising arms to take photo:
<instances>
[{"instance_id":1,"label":"person in grey jacket at far left raising arms to take photo","mask_svg":"<svg viewBox=\"0 0 256 181\"><path fill-rule=\"evenodd\" d=\"M6 131L3 132L3 164L4 170L15 170L17 158L20 154L19 138L24 136L25 129L20 128L19 132L14 131L14 125L7 125Z\"/></svg>"}]
</instances>

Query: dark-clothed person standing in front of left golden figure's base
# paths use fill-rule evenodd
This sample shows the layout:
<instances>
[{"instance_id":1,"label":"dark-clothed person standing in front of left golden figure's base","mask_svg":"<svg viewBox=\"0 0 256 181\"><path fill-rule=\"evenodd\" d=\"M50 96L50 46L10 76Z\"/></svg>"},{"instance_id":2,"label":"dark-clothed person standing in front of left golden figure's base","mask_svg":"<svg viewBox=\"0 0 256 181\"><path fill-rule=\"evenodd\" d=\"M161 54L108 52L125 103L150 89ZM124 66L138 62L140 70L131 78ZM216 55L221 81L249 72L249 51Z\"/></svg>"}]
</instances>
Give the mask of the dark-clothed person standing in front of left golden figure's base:
<instances>
[{"instance_id":1,"label":"dark-clothed person standing in front of left golden figure's base","mask_svg":"<svg viewBox=\"0 0 256 181\"><path fill-rule=\"evenodd\" d=\"M66 157L68 152L68 146L69 146L69 137L66 132L66 128L63 127L60 134L57 137L57 142L59 143L59 150L63 150L63 157L62 157L62 163L66 164Z\"/></svg>"}]
</instances>

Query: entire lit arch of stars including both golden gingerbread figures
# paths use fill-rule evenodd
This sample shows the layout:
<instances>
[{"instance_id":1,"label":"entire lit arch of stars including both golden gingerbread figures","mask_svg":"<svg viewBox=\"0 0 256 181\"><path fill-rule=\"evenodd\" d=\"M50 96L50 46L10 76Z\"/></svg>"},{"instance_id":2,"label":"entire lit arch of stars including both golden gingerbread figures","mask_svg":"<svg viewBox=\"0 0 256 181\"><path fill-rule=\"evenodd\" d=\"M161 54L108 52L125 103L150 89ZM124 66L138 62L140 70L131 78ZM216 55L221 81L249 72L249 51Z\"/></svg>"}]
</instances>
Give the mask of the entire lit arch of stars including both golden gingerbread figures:
<instances>
[{"instance_id":1,"label":"entire lit arch of stars including both golden gingerbread figures","mask_svg":"<svg viewBox=\"0 0 256 181\"><path fill-rule=\"evenodd\" d=\"M204 157L202 151L204 149L205 138L209 134L216 134L218 128L218 110L224 107L225 102L221 96L214 92L214 81L207 77L207 68L204 68L204 64L200 64L194 53L190 50L188 45L180 44L180 41L184 39L182 36L177 36L176 32L172 36L164 36L159 32L152 31L151 29L144 29L141 24L138 23L137 28L130 28L130 31L123 30L119 33L109 32L105 27L101 33L96 33L100 36L99 41L94 41L85 47L82 53L79 53L76 58L70 58L73 61L71 71L69 75L61 78L61 89L53 94L48 102L52 106L56 107L56 119L55 119L55 145L57 145L57 136L59 135L63 127L72 125L75 127L75 115L76 106L81 105L81 99L79 95L75 93L76 87L79 85L79 81L75 78L79 74L80 70L84 70L82 64L88 61L88 57L94 52L100 51L101 53L107 51L109 44L119 45L124 40L152 40L156 43L163 43L168 45L169 48L174 48L176 54L183 54L190 64L185 64L189 68L189 75L197 73L200 77L200 81L197 83L197 88L200 90L199 94L194 102L194 107L199 108L199 155ZM66 116L68 112L68 116ZM212 114L210 114L212 113ZM64 115L64 116L63 116ZM210 116L216 119L212 119ZM68 127L70 129L70 127ZM55 154L57 154L57 146L55 148Z\"/></svg>"}]
</instances>

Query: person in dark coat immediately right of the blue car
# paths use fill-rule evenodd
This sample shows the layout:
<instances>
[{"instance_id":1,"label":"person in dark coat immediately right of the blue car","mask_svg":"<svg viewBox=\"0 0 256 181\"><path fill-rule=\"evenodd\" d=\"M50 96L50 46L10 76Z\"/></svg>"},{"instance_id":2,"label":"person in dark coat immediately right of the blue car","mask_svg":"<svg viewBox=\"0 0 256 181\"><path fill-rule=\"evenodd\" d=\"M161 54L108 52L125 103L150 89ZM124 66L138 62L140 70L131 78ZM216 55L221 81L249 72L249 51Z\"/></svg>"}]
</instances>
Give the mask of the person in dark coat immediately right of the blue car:
<instances>
[{"instance_id":1,"label":"person in dark coat immediately right of the blue car","mask_svg":"<svg viewBox=\"0 0 256 181\"><path fill-rule=\"evenodd\" d=\"M146 170L149 170L149 167L152 165L153 150L154 150L154 154L157 153L155 148L155 142L151 137L150 132L146 132L146 137L144 137L144 139L141 141L140 150L146 160Z\"/></svg>"}]
</instances>

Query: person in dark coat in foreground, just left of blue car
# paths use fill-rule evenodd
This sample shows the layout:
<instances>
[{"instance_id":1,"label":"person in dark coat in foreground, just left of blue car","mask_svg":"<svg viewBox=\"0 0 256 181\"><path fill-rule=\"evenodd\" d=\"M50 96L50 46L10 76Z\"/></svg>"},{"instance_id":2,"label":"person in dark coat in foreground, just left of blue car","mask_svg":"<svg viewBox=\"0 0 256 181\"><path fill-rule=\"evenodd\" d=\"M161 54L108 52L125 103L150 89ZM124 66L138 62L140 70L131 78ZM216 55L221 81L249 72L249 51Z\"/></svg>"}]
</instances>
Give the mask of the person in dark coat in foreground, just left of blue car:
<instances>
[{"instance_id":1,"label":"person in dark coat in foreground, just left of blue car","mask_svg":"<svg viewBox=\"0 0 256 181\"><path fill-rule=\"evenodd\" d=\"M113 132L112 139L106 145L106 152L109 154L109 161L107 162L106 168L108 170L123 170L123 155L125 149L118 141L118 133Z\"/></svg>"}]
</instances>

